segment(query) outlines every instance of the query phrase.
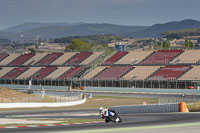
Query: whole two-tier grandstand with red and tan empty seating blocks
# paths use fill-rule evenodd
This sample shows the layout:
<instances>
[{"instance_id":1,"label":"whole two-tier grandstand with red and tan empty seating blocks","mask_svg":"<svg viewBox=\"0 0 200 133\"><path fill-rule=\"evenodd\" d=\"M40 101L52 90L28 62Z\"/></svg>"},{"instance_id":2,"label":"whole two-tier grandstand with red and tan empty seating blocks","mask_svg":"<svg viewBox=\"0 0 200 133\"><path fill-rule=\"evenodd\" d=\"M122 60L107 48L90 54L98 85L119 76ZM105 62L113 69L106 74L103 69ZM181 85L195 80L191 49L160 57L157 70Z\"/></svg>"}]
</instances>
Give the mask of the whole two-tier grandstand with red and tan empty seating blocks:
<instances>
[{"instance_id":1,"label":"whole two-tier grandstand with red and tan empty seating blocks","mask_svg":"<svg viewBox=\"0 0 200 133\"><path fill-rule=\"evenodd\" d=\"M106 58L103 52L2 53L0 84L27 84L32 79L42 85L187 88L200 80L199 53L120 51Z\"/></svg>"}]
</instances>

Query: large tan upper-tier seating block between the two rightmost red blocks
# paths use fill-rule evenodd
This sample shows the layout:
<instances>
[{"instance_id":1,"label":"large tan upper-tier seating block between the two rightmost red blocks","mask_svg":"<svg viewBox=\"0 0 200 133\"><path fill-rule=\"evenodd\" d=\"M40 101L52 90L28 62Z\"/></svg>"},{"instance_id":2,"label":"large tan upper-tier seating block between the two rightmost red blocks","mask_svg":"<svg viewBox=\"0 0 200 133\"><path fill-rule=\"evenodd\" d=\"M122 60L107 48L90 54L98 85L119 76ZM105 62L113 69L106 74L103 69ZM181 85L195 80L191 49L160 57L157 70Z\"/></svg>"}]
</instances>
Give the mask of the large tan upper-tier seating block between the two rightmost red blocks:
<instances>
[{"instance_id":1,"label":"large tan upper-tier seating block between the two rightmost red blocks","mask_svg":"<svg viewBox=\"0 0 200 133\"><path fill-rule=\"evenodd\" d=\"M138 64L151 53L152 51L129 51L115 64Z\"/></svg>"}]
</instances>

